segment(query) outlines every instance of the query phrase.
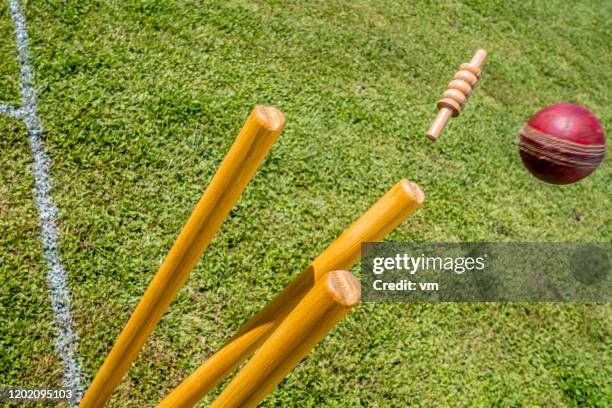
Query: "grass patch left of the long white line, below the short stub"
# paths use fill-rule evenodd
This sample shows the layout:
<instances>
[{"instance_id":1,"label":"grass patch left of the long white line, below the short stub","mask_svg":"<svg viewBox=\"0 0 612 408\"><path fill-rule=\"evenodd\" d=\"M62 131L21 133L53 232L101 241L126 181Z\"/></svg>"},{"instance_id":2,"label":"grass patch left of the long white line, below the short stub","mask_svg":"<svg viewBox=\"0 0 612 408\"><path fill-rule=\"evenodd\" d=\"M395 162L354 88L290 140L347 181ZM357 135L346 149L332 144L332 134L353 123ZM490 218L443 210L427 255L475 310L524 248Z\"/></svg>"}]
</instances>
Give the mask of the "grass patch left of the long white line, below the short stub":
<instances>
[{"instance_id":1,"label":"grass patch left of the long white line, below the short stub","mask_svg":"<svg viewBox=\"0 0 612 408\"><path fill-rule=\"evenodd\" d=\"M53 349L26 132L20 122L0 117L0 135L0 384L56 384L61 365Z\"/></svg>"}]
</instances>

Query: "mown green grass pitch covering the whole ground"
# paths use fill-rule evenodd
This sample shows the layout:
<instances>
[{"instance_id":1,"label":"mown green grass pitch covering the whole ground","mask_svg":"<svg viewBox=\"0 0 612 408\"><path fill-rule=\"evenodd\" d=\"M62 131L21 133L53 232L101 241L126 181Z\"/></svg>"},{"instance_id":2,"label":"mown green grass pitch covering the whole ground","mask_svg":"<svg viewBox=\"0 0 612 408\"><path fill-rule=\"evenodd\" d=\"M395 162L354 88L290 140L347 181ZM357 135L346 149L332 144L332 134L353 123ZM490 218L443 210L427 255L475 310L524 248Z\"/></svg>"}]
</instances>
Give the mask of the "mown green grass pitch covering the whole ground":
<instances>
[{"instance_id":1,"label":"mown green grass pitch covering the whole ground","mask_svg":"<svg viewBox=\"0 0 612 408\"><path fill-rule=\"evenodd\" d=\"M5 3L0 98L14 103ZM607 2L46 1L25 11L87 381L251 108L273 104L287 118L111 406L160 401L400 178L427 199L390 240L612 238L609 157L556 187L527 173L517 147L523 122L550 103L584 104L610 128ZM431 143L435 101L478 47L490 53L485 76ZM2 325L0 383L59 386L26 135L0 123L2 319L19 321ZM264 405L605 406L611 312L362 304Z\"/></svg>"}]
</instances>

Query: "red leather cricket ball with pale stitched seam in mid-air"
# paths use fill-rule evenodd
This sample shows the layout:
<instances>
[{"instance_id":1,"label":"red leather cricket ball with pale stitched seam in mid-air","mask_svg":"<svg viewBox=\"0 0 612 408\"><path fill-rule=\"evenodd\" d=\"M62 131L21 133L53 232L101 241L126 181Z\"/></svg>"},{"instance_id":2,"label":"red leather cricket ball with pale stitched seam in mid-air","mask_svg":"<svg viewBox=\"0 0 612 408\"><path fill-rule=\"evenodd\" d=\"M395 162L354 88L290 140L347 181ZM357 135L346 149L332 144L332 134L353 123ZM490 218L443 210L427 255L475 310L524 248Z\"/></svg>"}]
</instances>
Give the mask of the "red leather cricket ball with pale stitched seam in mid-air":
<instances>
[{"instance_id":1,"label":"red leather cricket ball with pale stitched seam in mid-air","mask_svg":"<svg viewBox=\"0 0 612 408\"><path fill-rule=\"evenodd\" d=\"M601 124L580 105L547 106L529 119L520 138L525 167L552 184L570 184L591 174L606 154Z\"/></svg>"}]
</instances>

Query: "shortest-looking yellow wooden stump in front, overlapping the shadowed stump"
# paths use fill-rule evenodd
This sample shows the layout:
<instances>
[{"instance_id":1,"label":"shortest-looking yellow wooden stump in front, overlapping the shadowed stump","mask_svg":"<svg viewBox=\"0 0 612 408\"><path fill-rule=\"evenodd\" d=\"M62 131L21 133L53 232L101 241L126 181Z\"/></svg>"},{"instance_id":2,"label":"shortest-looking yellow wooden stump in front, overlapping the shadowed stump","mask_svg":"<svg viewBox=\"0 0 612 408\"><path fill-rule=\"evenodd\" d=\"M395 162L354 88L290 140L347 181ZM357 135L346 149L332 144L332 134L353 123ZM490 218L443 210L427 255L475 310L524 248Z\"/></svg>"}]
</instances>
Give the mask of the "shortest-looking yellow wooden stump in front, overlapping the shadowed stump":
<instances>
[{"instance_id":1,"label":"shortest-looking yellow wooden stump in front, overlapping the shadowed stump","mask_svg":"<svg viewBox=\"0 0 612 408\"><path fill-rule=\"evenodd\" d=\"M359 282L349 272L333 271L323 276L211 408L256 407L360 298Z\"/></svg>"}]
</instances>

